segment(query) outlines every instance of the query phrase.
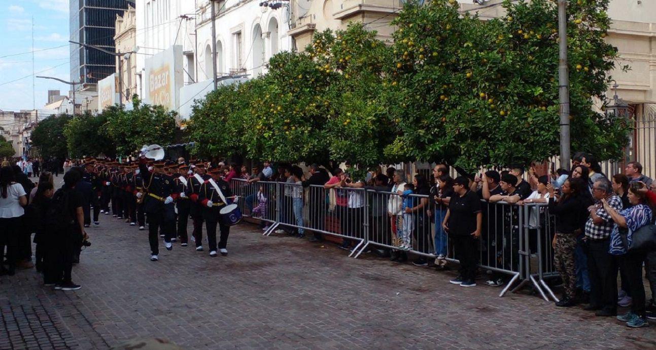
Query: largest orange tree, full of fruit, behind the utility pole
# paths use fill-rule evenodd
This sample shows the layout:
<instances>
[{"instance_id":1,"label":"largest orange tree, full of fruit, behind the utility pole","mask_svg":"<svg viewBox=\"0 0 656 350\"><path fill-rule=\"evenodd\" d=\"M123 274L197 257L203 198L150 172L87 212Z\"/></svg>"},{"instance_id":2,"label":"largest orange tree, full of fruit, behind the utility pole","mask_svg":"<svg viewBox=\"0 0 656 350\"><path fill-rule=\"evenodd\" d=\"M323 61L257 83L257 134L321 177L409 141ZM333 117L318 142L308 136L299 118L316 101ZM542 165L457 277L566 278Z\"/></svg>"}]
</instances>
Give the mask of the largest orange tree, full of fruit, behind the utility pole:
<instances>
[{"instance_id":1,"label":"largest orange tree, full of fruit, behind the utility pole","mask_svg":"<svg viewBox=\"0 0 656 350\"><path fill-rule=\"evenodd\" d=\"M604 42L607 0L569 7L573 149L618 157L624 121L592 109L604 99L617 49ZM396 138L386 155L472 170L526 164L558 154L558 33L554 2L504 3L506 16L482 21L457 2L406 3L394 20L386 74Z\"/></svg>"}]
</instances>

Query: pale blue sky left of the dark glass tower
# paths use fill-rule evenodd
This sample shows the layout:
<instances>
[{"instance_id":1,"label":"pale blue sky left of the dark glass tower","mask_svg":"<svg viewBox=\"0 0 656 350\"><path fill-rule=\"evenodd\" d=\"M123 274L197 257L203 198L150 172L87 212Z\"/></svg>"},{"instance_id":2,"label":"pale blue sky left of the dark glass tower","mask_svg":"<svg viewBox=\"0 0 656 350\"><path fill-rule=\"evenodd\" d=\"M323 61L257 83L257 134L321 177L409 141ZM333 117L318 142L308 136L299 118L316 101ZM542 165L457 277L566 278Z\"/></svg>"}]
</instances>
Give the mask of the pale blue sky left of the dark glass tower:
<instances>
[{"instance_id":1,"label":"pale blue sky left of the dark glass tower","mask_svg":"<svg viewBox=\"0 0 656 350\"><path fill-rule=\"evenodd\" d=\"M43 108L49 89L62 95L70 90L36 78L32 94L32 17L35 75L70 81L68 0L0 0L0 109L5 111Z\"/></svg>"}]
</instances>

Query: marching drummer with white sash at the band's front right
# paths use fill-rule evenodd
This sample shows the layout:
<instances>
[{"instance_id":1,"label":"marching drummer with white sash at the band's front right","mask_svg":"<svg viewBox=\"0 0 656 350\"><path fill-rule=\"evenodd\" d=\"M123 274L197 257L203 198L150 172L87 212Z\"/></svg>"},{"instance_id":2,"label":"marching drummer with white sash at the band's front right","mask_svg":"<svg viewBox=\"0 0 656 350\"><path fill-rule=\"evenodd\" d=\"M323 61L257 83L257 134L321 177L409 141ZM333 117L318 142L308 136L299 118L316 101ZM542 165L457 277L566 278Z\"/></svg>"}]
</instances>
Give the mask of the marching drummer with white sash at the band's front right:
<instances>
[{"instance_id":1,"label":"marching drummer with white sash at the band's front right","mask_svg":"<svg viewBox=\"0 0 656 350\"><path fill-rule=\"evenodd\" d=\"M228 235L230 235L230 226L224 225L221 222L220 210L226 206L221 199L221 195L216 191L216 187L220 189L224 198L232 197L230 186L228 183L221 179L221 168L209 168L209 174L212 176L211 180L205 181L201 185L201 190L198 195L198 201L201 203L203 219L205 220L205 227L207 228L207 242L209 243L209 256L216 256L216 224L218 224L221 237L218 242L218 250L222 256L228 255ZM216 187L215 187L216 185ZM202 244L196 242L196 244Z\"/></svg>"}]
</instances>

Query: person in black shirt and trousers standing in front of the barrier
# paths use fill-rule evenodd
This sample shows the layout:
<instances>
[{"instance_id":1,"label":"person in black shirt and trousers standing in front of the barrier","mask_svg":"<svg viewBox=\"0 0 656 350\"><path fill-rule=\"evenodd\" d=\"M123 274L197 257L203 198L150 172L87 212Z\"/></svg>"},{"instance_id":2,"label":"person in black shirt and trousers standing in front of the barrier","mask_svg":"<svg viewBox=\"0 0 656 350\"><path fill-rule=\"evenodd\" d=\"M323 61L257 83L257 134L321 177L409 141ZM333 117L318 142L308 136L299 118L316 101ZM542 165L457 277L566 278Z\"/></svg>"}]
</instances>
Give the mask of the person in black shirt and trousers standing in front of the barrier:
<instances>
[{"instance_id":1,"label":"person in black shirt and trousers standing in front of the barrier","mask_svg":"<svg viewBox=\"0 0 656 350\"><path fill-rule=\"evenodd\" d=\"M461 287L476 286L477 239L481 236L483 212L481 201L470 191L469 180L459 176L453 181L453 197L442 227L453 240L456 258L460 261L460 275L451 283Z\"/></svg>"}]
</instances>

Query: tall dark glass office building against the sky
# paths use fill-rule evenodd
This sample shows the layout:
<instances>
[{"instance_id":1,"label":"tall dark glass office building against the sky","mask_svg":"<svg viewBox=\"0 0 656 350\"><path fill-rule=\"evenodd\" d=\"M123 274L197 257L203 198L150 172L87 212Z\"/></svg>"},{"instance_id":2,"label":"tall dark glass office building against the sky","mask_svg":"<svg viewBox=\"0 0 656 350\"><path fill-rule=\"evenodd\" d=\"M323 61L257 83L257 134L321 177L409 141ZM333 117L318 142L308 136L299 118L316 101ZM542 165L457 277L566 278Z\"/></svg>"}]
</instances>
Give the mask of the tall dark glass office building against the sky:
<instances>
[{"instance_id":1,"label":"tall dark glass office building against the sky","mask_svg":"<svg viewBox=\"0 0 656 350\"><path fill-rule=\"evenodd\" d=\"M123 15L129 3L127 0L70 0L71 41L114 51L116 15ZM70 52L73 82L87 87L115 72L115 57L111 54L77 44L71 44Z\"/></svg>"}]
</instances>

